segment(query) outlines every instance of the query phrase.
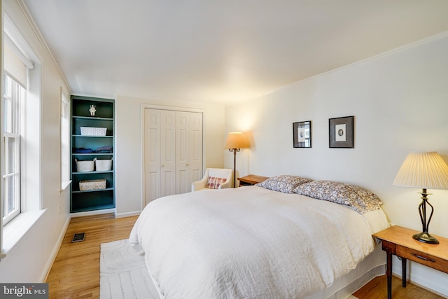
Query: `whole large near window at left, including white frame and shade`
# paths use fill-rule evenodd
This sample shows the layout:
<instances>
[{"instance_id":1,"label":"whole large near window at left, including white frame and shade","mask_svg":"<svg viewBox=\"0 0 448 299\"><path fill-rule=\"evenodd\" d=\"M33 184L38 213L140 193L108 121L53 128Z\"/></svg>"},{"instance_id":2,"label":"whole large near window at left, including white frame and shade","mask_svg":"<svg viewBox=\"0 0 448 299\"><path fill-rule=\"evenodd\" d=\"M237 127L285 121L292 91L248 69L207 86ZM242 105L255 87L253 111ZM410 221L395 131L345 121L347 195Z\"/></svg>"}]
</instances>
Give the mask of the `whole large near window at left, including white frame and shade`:
<instances>
[{"instance_id":1,"label":"whole large near window at left, including white frame and shade","mask_svg":"<svg viewBox=\"0 0 448 299\"><path fill-rule=\"evenodd\" d=\"M3 29L0 214L3 227L17 227L41 210L41 64L7 15Z\"/></svg>"}]
</instances>

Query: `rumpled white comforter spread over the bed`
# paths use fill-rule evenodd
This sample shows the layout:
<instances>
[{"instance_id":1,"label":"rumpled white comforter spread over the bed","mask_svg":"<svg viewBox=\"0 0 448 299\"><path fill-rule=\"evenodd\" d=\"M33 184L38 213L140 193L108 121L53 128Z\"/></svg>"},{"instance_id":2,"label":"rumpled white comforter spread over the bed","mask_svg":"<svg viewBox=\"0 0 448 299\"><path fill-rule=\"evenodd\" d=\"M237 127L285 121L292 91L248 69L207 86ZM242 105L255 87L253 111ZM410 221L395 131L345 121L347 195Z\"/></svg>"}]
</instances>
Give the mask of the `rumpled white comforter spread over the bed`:
<instances>
[{"instance_id":1,"label":"rumpled white comforter spread over the bed","mask_svg":"<svg viewBox=\"0 0 448 299\"><path fill-rule=\"evenodd\" d=\"M381 210L246 186L154 200L130 243L162 298L302 298L356 267L386 227Z\"/></svg>"}]
</instances>

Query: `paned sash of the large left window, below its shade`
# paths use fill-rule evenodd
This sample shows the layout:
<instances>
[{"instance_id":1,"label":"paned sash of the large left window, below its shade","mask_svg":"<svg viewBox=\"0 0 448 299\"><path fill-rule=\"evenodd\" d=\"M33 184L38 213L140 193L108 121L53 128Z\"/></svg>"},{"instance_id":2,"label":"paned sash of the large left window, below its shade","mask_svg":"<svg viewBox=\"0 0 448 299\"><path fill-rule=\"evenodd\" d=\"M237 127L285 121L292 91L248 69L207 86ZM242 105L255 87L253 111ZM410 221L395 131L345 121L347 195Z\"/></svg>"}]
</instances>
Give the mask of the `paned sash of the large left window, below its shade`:
<instances>
[{"instance_id":1,"label":"paned sash of the large left window, below its shade","mask_svg":"<svg viewBox=\"0 0 448 299\"><path fill-rule=\"evenodd\" d=\"M3 224L20 214L20 115L26 90L5 75L3 95Z\"/></svg>"}]
</instances>

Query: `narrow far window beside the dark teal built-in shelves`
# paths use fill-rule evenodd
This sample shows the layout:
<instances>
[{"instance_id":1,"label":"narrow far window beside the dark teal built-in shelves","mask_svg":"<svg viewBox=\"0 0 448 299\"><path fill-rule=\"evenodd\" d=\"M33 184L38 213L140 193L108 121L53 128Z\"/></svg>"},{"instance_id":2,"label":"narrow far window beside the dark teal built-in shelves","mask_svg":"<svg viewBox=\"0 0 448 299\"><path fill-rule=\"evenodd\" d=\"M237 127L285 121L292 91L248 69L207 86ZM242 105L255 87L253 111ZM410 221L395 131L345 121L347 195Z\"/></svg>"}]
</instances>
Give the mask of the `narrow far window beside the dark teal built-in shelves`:
<instances>
[{"instance_id":1,"label":"narrow far window beside the dark teal built-in shelves","mask_svg":"<svg viewBox=\"0 0 448 299\"><path fill-rule=\"evenodd\" d=\"M70 183L70 102L61 91L61 190Z\"/></svg>"}]
</instances>

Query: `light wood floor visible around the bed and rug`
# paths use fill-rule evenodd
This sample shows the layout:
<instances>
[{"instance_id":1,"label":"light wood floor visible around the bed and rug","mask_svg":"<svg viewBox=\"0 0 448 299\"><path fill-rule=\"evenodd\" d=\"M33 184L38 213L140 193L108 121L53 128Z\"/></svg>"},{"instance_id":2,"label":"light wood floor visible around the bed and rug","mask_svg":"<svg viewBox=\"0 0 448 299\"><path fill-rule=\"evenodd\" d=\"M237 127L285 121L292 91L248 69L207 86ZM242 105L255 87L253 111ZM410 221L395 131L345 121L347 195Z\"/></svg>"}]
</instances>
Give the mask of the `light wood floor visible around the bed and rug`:
<instances>
[{"instance_id":1,"label":"light wood floor visible around the bed and rug","mask_svg":"<svg viewBox=\"0 0 448 299\"><path fill-rule=\"evenodd\" d=\"M99 298L100 244L127 239L137 216L114 218L113 214L72 218L46 282L50 299ZM85 232L85 241L71 243L73 234ZM373 279L354 293L359 299L387 298L386 277ZM393 277L393 299L439 299L429 291ZM132 298L125 298L132 299Z\"/></svg>"}]
</instances>

